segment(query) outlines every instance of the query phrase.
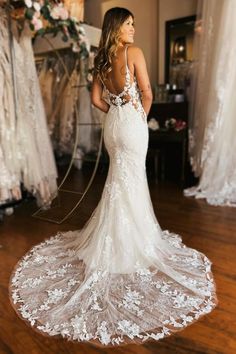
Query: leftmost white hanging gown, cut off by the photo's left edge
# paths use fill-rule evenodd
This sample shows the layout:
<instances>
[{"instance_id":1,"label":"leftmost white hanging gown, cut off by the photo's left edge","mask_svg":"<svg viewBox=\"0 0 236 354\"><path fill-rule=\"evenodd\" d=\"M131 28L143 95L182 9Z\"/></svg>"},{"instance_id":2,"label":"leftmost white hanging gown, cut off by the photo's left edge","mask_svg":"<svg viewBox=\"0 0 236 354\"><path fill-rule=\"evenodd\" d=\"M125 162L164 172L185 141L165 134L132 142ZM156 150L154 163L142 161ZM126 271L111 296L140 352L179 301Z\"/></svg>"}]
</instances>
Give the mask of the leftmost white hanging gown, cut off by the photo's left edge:
<instances>
[{"instance_id":1,"label":"leftmost white hanging gown, cut off by the photo's left edge","mask_svg":"<svg viewBox=\"0 0 236 354\"><path fill-rule=\"evenodd\" d=\"M8 21L0 7L0 204L21 199L21 152L16 144Z\"/></svg>"}]
</instances>

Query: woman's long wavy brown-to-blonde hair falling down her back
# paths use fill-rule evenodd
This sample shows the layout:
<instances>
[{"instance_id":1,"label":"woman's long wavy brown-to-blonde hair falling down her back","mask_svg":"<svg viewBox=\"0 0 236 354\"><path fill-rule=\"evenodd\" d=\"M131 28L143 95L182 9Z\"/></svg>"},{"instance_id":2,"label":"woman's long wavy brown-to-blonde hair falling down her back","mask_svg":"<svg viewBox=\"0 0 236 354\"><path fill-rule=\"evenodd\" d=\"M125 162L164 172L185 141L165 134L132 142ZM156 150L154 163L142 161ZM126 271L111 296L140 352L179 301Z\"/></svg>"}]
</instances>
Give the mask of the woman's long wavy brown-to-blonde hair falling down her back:
<instances>
[{"instance_id":1,"label":"woman's long wavy brown-to-blonde hair falling down her back","mask_svg":"<svg viewBox=\"0 0 236 354\"><path fill-rule=\"evenodd\" d=\"M123 7L113 7L105 13L98 53L94 60L94 75L101 81L106 80L111 71L112 58L116 55L120 27L133 14Z\"/></svg>"}]
</instances>

